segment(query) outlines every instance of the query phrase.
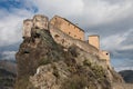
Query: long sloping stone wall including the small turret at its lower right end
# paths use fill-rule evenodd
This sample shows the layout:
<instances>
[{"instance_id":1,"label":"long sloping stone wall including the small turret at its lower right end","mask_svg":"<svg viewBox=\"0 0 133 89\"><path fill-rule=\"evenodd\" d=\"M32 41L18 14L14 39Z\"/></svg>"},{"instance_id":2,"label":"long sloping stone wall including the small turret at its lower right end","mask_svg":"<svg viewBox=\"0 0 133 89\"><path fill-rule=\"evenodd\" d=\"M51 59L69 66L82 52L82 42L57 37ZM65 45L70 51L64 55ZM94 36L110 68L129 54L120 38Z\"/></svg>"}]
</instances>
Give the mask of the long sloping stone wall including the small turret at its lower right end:
<instances>
[{"instance_id":1,"label":"long sloping stone wall including the small turret at its lower right end","mask_svg":"<svg viewBox=\"0 0 133 89\"><path fill-rule=\"evenodd\" d=\"M72 37L64 33L63 31L61 31L60 29L55 28L52 24L49 27L50 27L49 28L50 33L51 33L52 38L54 39L54 41L57 43L63 46L65 51L72 44L78 46L80 49L84 50L85 52L89 52L93 56L99 57L100 60L105 61L106 65L109 67L111 67L110 66L110 53L108 51L100 50L85 41L73 39Z\"/></svg>"}]
</instances>

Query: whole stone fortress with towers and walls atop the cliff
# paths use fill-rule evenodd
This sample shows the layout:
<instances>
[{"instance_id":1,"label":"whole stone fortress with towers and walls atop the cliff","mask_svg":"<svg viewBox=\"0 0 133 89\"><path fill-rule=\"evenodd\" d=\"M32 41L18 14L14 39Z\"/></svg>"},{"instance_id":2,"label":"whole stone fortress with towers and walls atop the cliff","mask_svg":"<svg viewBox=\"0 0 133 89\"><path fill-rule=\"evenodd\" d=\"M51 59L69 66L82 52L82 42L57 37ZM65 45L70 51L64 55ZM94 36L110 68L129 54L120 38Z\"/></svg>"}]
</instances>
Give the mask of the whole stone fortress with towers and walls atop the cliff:
<instances>
[{"instance_id":1,"label":"whole stone fortress with towers and walls atop the cliff","mask_svg":"<svg viewBox=\"0 0 133 89\"><path fill-rule=\"evenodd\" d=\"M100 49L100 37L98 34L89 36L86 43L84 39L84 30L76 24L70 22L65 18L54 16L50 21L49 18L42 14L37 14L33 19L27 19L23 21L23 39L31 37L32 28L50 30L57 43L60 43L64 48L69 48L72 44L78 46L86 52L92 52L98 56L101 60L106 61L110 66L110 53ZM37 39L38 43L38 39ZM91 46L91 48L90 48ZM66 49L64 49L66 51Z\"/></svg>"}]
</instances>

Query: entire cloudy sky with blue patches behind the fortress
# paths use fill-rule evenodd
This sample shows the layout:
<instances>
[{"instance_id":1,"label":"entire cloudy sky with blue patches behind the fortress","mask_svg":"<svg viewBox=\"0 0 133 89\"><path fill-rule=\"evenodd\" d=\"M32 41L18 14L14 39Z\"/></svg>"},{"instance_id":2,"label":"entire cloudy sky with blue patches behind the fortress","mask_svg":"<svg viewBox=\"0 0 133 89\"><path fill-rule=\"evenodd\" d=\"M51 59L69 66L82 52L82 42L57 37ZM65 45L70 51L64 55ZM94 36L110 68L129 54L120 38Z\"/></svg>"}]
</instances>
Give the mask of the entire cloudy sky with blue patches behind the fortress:
<instances>
[{"instance_id":1,"label":"entire cloudy sky with blue patches behind the fortress","mask_svg":"<svg viewBox=\"0 0 133 89\"><path fill-rule=\"evenodd\" d=\"M58 14L89 34L99 34L101 49L116 69L133 68L133 0L0 0L0 59L14 59L22 42L22 21L34 14Z\"/></svg>"}]
</instances>

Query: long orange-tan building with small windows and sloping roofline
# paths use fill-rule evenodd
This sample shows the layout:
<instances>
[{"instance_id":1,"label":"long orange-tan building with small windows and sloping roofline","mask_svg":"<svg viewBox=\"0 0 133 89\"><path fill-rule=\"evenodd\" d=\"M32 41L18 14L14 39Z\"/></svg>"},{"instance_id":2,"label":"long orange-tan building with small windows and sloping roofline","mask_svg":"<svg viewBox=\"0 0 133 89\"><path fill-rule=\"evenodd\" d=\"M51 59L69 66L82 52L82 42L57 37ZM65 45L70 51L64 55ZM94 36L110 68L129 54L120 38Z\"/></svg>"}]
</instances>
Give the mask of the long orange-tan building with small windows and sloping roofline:
<instances>
[{"instance_id":1,"label":"long orange-tan building with small windows and sloping roofline","mask_svg":"<svg viewBox=\"0 0 133 89\"><path fill-rule=\"evenodd\" d=\"M55 16L54 18L52 18L50 23L74 39L84 40L84 31L79 29L75 24L71 23L64 18Z\"/></svg>"}]
</instances>

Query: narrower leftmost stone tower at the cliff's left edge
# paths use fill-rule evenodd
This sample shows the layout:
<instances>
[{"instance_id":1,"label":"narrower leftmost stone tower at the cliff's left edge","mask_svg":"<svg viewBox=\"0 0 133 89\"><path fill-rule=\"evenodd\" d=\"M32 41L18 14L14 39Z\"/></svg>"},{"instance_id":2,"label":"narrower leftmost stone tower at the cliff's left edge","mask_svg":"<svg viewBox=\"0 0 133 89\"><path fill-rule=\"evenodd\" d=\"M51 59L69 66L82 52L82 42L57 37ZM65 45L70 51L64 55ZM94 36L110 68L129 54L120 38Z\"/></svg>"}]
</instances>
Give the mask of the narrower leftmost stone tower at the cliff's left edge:
<instances>
[{"instance_id":1,"label":"narrower leftmost stone tower at the cliff's left edge","mask_svg":"<svg viewBox=\"0 0 133 89\"><path fill-rule=\"evenodd\" d=\"M33 26L32 19L27 19L23 21L23 31L22 31L23 37L31 37L32 26Z\"/></svg>"}]
</instances>

